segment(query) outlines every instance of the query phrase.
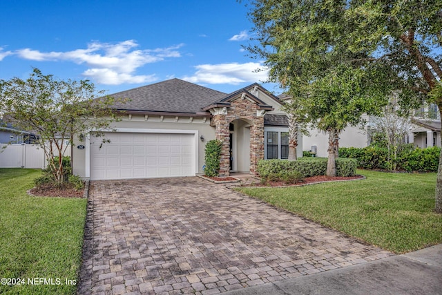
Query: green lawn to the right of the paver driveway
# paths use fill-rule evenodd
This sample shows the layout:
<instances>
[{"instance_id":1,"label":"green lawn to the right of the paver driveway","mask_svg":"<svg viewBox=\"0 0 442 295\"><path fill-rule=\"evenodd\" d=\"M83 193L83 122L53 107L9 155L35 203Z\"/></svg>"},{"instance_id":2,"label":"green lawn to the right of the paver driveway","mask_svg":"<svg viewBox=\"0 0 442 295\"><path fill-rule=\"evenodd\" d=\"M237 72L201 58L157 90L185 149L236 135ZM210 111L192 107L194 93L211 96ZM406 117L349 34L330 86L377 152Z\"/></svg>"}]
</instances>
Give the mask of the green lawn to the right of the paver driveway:
<instances>
[{"instance_id":1,"label":"green lawn to the right of the paver driveway","mask_svg":"<svg viewBox=\"0 0 442 295\"><path fill-rule=\"evenodd\" d=\"M358 174L367 179L239 190L398 254L442 242L442 215L434 213L436 173Z\"/></svg>"}]
</instances>

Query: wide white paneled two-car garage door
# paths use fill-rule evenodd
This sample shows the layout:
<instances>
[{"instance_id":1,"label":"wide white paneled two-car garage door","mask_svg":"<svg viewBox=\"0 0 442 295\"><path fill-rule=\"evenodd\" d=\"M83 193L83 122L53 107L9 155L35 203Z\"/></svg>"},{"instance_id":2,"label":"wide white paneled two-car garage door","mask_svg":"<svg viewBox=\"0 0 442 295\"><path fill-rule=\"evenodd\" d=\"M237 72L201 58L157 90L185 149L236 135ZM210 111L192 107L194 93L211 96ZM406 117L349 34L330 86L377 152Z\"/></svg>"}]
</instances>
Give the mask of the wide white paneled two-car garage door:
<instances>
[{"instance_id":1,"label":"wide white paneled two-car garage door","mask_svg":"<svg viewBox=\"0 0 442 295\"><path fill-rule=\"evenodd\" d=\"M91 137L90 179L161 178L195 175L193 134L106 133Z\"/></svg>"}]
</instances>

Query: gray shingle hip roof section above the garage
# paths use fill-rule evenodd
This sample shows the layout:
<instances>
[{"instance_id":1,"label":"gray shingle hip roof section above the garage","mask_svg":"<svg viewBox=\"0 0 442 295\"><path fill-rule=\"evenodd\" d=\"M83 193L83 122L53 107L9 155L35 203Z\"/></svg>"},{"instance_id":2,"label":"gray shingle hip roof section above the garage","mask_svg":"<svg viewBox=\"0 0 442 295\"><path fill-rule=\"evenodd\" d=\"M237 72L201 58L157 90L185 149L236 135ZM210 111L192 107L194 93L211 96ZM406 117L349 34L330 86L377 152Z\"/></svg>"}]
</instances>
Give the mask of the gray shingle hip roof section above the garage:
<instances>
[{"instance_id":1,"label":"gray shingle hip roof section above the garage","mask_svg":"<svg viewBox=\"0 0 442 295\"><path fill-rule=\"evenodd\" d=\"M113 106L119 110L198 113L202 107L218 101L226 95L227 93L175 78L122 91L111 96L131 99L126 104Z\"/></svg>"}]
</instances>

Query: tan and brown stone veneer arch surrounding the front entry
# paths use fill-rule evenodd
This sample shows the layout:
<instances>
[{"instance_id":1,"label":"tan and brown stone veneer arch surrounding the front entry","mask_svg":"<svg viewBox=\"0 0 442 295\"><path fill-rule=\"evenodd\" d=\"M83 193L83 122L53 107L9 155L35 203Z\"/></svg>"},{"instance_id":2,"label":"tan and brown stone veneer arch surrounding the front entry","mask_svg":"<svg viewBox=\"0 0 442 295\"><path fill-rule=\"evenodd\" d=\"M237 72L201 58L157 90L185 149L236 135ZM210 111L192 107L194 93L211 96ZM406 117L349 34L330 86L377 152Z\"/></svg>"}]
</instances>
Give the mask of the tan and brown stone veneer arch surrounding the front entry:
<instances>
[{"instance_id":1,"label":"tan and brown stone veneer arch surrounding the front entry","mask_svg":"<svg viewBox=\"0 0 442 295\"><path fill-rule=\"evenodd\" d=\"M264 159L264 113L258 116L258 104L249 99L238 97L231 101L227 114L213 115L212 124L215 125L216 139L222 142L220 159L220 176L229 176L230 166L230 131L233 120L245 120L250 127L250 173L256 175L258 161Z\"/></svg>"}]
</instances>

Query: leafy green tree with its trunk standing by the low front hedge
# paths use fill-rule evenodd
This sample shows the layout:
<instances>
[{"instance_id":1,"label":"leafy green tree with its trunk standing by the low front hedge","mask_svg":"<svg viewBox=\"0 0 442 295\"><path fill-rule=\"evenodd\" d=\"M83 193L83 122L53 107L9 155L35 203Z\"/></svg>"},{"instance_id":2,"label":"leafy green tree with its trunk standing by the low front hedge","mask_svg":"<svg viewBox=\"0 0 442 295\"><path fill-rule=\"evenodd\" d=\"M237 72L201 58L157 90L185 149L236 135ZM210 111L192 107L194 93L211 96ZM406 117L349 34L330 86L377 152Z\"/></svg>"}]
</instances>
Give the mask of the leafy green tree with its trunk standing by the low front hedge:
<instances>
[{"instance_id":1,"label":"leafy green tree with its trunk standing by the low front hedge","mask_svg":"<svg viewBox=\"0 0 442 295\"><path fill-rule=\"evenodd\" d=\"M363 113L377 113L388 88L376 84L378 65L366 50L353 52L343 39L354 30L340 22L345 1L251 1L249 17L256 32L247 48L265 59L270 79L279 82L314 127L329 135L327 175L336 175L339 134L363 124ZM383 76L389 71L383 71ZM373 79L375 77L375 79ZM289 119L300 117L287 108Z\"/></svg>"}]
</instances>

